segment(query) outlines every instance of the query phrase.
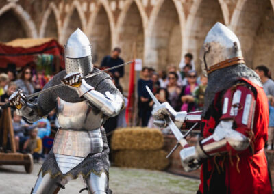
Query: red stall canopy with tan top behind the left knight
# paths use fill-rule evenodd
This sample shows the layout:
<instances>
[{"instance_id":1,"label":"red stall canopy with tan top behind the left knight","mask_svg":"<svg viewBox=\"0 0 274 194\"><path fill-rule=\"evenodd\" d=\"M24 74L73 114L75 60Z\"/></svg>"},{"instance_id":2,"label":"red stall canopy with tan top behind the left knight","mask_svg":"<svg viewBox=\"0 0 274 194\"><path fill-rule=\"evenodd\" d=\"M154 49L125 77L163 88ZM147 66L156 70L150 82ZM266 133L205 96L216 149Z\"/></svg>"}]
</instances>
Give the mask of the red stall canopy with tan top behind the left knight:
<instances>
[{"instance_id":1,"label":"red stall canopy with tan top behind the left knight","mask_svg":"<svg viewBox=\"0 0 274 194\"><path fill-rule=\"evenodd\" d=\"M53 38L23 38L0 43L0 68L6 68L9 63L17 67L25 66L34 61L35 55L42 53L55 55L62 60L64 48ZM64 63L60 64L64 68Z\"/></svg>"}]
</instances>

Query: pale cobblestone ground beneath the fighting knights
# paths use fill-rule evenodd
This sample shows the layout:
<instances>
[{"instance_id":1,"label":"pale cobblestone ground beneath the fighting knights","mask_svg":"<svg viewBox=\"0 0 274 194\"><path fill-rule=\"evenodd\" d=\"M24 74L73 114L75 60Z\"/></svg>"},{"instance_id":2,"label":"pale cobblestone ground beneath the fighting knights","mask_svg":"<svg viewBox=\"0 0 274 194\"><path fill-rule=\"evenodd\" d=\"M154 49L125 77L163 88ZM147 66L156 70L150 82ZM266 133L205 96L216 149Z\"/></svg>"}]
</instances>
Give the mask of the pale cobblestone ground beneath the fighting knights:
<instances>
[{"instance_id":1,"label":"pale cobblestone ground beneath the fighting knights","mask_svg":"<svg viewBox=\"0 0 274 194\"><path fill-rule=\"evenodd\" d=\"M26 174L23 166L0 166L0 193L30 193L37 178L41 164L35 164L32 174ZM113 193L196 193L199 180L176 176L161 171L142 169L110 168L110 189ZM81 178L66 184L60 194L79 193L84 188ZM83 191L82 194L88 193Z\"/></svg>"}]
</instances>

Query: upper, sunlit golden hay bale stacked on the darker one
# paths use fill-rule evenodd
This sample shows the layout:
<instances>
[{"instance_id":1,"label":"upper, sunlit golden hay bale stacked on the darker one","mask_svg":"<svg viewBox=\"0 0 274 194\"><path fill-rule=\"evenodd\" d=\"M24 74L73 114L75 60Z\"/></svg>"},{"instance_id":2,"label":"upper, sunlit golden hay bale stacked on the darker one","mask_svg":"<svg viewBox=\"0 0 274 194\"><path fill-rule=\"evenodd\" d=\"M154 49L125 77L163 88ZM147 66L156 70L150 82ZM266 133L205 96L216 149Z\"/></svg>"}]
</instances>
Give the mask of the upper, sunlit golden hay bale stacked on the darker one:
<instances>
[{"instance_id":1,"label":"upper, sunlit golden hay bale stacked on the darker one","mask_svg":"<svg viewBox=\"0 0 274 194\"><path fill-rule=\"evenodd\" d=\"M120 128L112 135L112 150L158 150L164 145L164 137L156 128Z\"/></svg>"}]
</instances>

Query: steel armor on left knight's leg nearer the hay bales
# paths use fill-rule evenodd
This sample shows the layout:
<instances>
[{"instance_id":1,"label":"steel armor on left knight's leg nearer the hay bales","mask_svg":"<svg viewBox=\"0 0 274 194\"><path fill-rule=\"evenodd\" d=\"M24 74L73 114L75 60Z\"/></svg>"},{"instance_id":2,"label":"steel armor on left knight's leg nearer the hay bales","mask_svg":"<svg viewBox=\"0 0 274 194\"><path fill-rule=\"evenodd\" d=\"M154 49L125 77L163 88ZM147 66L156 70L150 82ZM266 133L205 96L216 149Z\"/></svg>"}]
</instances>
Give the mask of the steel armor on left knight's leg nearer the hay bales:
<instances>
[{"instance_id":1,"label":"steel armor on left knight's leg nearer the hay bales","mask_svg":"<svg viewBox=\"0 0 274 194\"><path fill-rule=\"evenodd\" d=\"M103 172L101 176L97 176L93 173L85 178L84 181L88 186L90 194L107 194L108 193L108 176Z\"/></svg>"}]
</instances>

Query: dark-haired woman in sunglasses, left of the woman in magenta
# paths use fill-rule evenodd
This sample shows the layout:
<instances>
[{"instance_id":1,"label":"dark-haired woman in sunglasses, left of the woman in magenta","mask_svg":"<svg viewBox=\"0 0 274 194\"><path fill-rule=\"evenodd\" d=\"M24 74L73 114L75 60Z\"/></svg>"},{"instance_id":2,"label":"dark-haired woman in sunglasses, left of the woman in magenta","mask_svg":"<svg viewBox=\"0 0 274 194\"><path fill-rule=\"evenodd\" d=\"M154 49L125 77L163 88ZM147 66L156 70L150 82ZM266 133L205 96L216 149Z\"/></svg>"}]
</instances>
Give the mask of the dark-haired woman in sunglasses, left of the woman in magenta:
<instances>
[{"instance_id":1,"label":"dark-haired woman in sunglasses, left of the woman in magenta","mask_svg":"<svg viewBox=\"0 0 274 194\"><path fill-rule=\"evenodd\" d=\"M178 74L176 72L169 72L168 76L169 83L166 87L169 92L169 101L171 102L171 107L177 109L177 102L179 99L179 94L181 93L181 87L178 85Z\"/></svg>"}]
</instances>

